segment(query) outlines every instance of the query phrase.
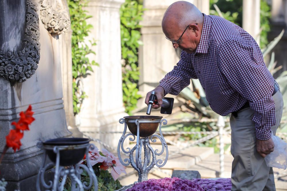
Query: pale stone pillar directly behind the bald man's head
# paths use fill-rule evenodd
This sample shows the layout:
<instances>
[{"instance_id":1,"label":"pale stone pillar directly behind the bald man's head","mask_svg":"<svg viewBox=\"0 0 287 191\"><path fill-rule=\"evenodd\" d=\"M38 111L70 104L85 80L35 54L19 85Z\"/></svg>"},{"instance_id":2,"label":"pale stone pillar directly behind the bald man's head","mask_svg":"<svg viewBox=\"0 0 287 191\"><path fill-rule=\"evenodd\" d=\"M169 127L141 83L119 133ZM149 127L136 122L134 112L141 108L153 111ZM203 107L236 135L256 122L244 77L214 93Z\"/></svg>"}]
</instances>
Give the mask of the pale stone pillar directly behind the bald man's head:
<instances>
[{"instance_id":1,"label":"pale stone pillar directly behind the bald man's head","mask_svg":"<svg viewBox=\"0 0 287 191\"><path fill-rule=\"evenodd\" d=\"M138 101L138 109L146 107L146 93L158 86L165 74L179 61L180 50L173 48L162 32L161 21L169 5L176 0L145 0L141 34L143 46L139 47L139 90L143 98ZM209 13L209 0L190 0L203 13ZM152 70L151 70L152 68Z\"/></svg>"}]
</instances>

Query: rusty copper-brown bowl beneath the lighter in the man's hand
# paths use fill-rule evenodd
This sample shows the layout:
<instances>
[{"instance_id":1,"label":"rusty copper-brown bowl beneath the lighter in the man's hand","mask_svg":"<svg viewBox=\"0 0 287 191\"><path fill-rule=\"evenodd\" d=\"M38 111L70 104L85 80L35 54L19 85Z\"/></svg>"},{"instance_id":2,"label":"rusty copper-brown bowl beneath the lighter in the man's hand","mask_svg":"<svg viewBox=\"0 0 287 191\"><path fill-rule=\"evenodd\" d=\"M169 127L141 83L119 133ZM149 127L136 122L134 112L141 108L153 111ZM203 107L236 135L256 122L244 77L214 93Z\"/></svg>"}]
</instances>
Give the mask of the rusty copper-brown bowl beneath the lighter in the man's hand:
<instances>
[{"instance_id":1,"label":"rusty copper-brown bowl beneath the lighter in the man's hand","mask_svg":"<svg viewBox=\"0 0 287 191\"><path fill-rule=\"evenodd\" d=\"M127 127L137 136L137 124L136 119L139 121L139 136L148 137L156 132L158 125L162 119L161 116L145 116L145 115L135 115L124 117Z\"/></svg>"}]
</instances>

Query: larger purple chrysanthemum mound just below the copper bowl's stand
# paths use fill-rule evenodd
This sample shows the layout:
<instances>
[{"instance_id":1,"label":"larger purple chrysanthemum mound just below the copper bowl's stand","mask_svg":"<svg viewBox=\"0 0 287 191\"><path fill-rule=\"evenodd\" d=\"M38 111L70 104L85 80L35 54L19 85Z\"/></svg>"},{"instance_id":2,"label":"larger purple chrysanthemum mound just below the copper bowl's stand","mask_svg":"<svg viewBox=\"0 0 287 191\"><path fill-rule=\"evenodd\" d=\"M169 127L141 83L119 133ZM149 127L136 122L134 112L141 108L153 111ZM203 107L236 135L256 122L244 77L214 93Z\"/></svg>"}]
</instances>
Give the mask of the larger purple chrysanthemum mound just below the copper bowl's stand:
<instances>
[{"instance_id":1,"label":"larger purple chrysanthemum mound just below the copper bowl's stand","mask_svg":"<svg viewBox=\"0 0 287 191\"><path fill-rule=\"evenodd\" d=\"M204 191L197 183L180 178L149 179L139 182L127 191Z\"/></svg>"}]
</instances>

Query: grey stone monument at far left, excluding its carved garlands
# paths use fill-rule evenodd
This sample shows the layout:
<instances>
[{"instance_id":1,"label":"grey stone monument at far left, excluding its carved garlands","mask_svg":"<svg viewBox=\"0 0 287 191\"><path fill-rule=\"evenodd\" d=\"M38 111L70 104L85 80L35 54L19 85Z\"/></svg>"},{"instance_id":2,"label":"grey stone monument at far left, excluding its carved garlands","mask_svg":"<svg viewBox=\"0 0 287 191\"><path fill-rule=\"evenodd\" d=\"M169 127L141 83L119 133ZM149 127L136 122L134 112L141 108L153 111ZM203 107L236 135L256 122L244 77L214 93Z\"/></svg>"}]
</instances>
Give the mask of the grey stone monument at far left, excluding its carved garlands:
<instances>
[{"instance_id":1,"label":"grey stone monument at far left, excluding its carved garlands","mask_svg":"<svg viewBox=\"0 0 287 191\"><path fill-rule=\"evenodd\" d=\"M0 1L0 50L21 50L26 26L26 1ZM6 190L36 190L36 175L42 162L38 141L67 137L58 36L51 36L39 23L40 62L36 73L23 83L11 84L0 77L0 151L12 121L32 105L34 118L30 131L24 132L20 151L8 149L0 165L0 178L8 182Z\"/></svg>"}]
</instances>

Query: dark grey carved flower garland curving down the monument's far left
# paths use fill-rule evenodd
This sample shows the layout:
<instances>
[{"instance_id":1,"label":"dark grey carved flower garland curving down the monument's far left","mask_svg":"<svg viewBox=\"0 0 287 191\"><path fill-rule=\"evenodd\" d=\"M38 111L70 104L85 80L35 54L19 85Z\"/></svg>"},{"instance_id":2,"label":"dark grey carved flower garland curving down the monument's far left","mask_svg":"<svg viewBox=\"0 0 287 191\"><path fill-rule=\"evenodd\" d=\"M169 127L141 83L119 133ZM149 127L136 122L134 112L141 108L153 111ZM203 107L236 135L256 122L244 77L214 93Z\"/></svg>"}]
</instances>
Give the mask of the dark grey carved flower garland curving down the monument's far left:
<instances>
[{"instance_id":1,"label":"dark grey carved flower garland curving down the monument's far left","mask_svg":"<svg viewBox=\"0 0 287 191\"><path fill-rule=\"evenodd\" d=\"M21 50L3 52L0 50L0 76L11 85L24 82L35 74L40 60L40 32L37 0L26 1L25 36Z\"/></svg>"}]
</instances>

